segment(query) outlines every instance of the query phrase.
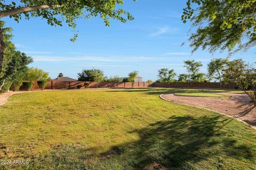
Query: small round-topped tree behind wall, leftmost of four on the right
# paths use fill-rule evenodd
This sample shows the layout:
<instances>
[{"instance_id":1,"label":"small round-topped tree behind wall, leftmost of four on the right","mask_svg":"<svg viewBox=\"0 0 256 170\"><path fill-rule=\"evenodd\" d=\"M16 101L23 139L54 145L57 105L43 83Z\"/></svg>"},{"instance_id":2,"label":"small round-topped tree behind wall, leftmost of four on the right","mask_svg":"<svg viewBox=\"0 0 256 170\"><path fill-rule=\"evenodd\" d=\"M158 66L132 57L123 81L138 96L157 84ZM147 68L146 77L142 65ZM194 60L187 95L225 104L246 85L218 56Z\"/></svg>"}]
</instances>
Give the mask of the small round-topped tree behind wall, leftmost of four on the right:
<instances>
[{"instance_id":1,"label":"small round-topped tree behind wall, leftmost of four on the right","mask_svg":"<svg viewBox=\"0 0 256 170\"><path fill-rule=\"evenodd\" d=\"M163 83L171 83L175 81L175 76L177 74L174 72L173 69L169 70L167 68L163 68L158 70L158 80L157 82L163 82Z\"/></svg>"}]
</instances>

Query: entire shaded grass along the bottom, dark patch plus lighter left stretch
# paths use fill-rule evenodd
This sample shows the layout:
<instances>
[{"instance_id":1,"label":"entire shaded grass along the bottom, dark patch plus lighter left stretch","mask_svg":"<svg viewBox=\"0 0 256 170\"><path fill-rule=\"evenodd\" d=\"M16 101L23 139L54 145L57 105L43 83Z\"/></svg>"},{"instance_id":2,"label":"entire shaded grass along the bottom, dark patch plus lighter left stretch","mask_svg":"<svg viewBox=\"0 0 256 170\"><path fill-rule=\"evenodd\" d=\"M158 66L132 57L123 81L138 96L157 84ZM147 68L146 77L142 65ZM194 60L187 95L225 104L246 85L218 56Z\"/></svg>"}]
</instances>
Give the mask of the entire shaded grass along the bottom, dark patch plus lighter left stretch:
<instances>
[{"instance_id":1,"label":"entire shaded grass along the bottom, dark patch plus lighter left stretch","mask_svg":"<svg viewBox=\"0 0 256 170\"><path fill-rule=\"evenodd\" d=\"M84 145L55 146L49 154L32 159L28 169L204 169L223 167L226 161L255 163L255 151L245 141L222 130L233 119L223 116L172 116L169 120L133 130L138 141L106 152ZM228 158L228 159L227 159ZM201 163L200 163L201 162ZM203 163L202 163L203 162ZM244 166L245 164L243 164Z\"/></svg>"}]
</instances>

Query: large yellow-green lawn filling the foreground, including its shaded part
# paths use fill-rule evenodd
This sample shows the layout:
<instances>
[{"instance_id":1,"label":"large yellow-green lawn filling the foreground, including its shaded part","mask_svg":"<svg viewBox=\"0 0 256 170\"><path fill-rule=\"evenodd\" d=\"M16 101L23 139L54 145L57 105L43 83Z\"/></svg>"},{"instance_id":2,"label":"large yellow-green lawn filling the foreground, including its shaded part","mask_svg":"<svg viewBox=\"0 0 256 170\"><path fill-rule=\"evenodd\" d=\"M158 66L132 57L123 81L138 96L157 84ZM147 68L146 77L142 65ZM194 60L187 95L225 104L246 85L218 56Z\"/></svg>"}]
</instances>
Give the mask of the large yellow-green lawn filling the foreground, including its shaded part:
<instances>
[{"instance_id":1,"label":"large yellow-green lawn filling the foreground, including its shaded part","mask_svg":"<svg viewBox=\"0 0 256 170\"><path fill-rule=\"evenodd\" d=\"M256 131L160 94L116 89L30 92L0 106L0 169L256 169Z\"/></svg>"}]
</instances>

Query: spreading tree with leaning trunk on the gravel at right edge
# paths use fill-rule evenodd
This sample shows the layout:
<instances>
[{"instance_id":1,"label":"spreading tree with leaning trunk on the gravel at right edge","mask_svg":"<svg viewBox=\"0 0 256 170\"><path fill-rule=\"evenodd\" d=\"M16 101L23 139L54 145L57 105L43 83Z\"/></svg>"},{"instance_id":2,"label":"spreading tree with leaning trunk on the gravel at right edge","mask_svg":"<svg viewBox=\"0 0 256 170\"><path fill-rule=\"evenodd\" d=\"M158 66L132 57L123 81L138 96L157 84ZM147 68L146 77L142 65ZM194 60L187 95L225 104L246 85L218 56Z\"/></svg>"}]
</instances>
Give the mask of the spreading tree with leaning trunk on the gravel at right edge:
<instances>
[{"instance_id":1,"label":"spreading tree with leaning trunk on the gravel at right edge","mask_svg":"<svg viewBox=\"0 0 256 170\"><path fill-rule=\"evenodd\" d=\"M245 64L242 59L233 60L223 74L224 82L236 82L253 101L256 107L256 69L254 66ZM253 91L246 91L252 88Z\"/></svg>"}]
</instances>

